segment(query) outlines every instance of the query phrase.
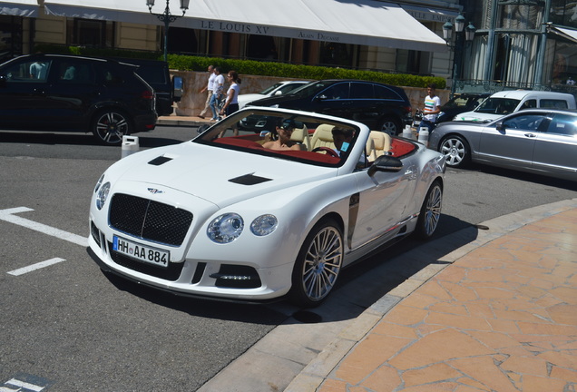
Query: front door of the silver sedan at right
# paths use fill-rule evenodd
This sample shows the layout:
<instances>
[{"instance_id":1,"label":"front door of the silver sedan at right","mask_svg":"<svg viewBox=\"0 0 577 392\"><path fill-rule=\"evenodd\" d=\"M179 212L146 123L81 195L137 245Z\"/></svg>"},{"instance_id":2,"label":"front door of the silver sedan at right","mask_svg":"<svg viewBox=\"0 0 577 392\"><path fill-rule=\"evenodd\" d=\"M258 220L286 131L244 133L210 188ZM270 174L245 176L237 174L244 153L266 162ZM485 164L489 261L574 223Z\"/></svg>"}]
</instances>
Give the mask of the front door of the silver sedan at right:
<instances>
[{"instance_id":1,"label":"front door of the silver sedan at right","mask_svg":"<svg viewBox=\"0 0 577 392\"><path fill-rule=\"evenodd\" d=\"M480 137L477 158L512 168L530 167L537 132L549 120L539 113L517 113L492 122Z\"/></svg>"}]
</instances>

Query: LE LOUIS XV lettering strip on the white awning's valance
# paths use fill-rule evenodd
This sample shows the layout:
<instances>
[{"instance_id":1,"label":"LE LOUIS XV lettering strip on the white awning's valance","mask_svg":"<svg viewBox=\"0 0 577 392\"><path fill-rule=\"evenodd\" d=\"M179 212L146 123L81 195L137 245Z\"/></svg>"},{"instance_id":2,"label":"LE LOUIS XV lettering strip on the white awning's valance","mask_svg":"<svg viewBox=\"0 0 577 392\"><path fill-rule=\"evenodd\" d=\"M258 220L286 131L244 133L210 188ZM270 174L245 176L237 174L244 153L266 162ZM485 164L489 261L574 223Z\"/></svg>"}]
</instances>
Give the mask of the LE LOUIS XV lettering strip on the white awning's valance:
<instances>
[{"instance_id":1,"label":"LE LOUIS XV lettering strip on the white awning's valance","mask_svg":"<svg viewBox=\"0 0 577 392\"><path fill-rule=\"evenodd\" d=\"M289 31L292 34L279 34L278 28L265 26L265 25L250 25L250 24L243 24L243 23L234 23L234 22L220 22L220 21L209 21L209 20L202 20L200 22L200 28L203 30L216 30L222 31L226 33L242 33L242 34L263 34L263 35L279 35L279 36L288 36L292 38L301 38L301 39L309 39L309 40L316 40L316 41L330 41L330 42L339 42L340 37L335 34L328 34L328 33L320 33L320 32L312 32L312 31L302 31L296 29L290 29ZM271 31L274 29L275 31ZM288 31L288 30L287 30ZM287 33L285 31L284 33Z\"/></svg>"}]
</instances>

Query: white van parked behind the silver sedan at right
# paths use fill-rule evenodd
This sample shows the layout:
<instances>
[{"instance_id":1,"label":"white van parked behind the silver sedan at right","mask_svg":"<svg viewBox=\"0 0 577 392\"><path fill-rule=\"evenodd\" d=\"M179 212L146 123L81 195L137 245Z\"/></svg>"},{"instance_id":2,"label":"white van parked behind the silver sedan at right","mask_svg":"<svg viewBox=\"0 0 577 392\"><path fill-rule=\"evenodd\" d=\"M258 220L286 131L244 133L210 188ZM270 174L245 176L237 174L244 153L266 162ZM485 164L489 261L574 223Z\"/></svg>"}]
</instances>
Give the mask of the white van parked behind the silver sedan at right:
<instances>
[{"instance_id":1,"label":"white van parked behind the silver sedan at right","mask_svg":"<svg viewBox=\"0 0 577 392\"><path fill-rule=\"evenodd\" d=\"M455 121L493 121L505 114L532 108L576 109L575 97L570 93L543 91L502 91L494 93L471 112L460 113Z\"/></svg>"}]
</instances>

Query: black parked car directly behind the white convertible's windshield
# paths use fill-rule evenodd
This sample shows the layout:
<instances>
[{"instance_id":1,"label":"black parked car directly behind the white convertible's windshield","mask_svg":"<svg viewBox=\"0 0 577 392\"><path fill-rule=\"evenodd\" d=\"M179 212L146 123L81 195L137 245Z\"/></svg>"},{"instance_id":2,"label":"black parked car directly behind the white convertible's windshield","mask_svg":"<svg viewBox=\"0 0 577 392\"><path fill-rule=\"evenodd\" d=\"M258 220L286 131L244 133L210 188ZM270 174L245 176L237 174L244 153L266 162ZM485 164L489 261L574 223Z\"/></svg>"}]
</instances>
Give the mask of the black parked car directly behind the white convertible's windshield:
<instances>
[{"instance_id":1,"label":"black parked car directly behind the white convertible's windshield","mask_svg":"<svg viewBox=\"0 0 577 392\"><path fill-rule=\"evenodd\" d=\"M322 80L288 94L263 98L250 105L324 113L362 122L390 135L413 122L411 103L396 86L360 80Z\"/></svg>"}]
</instances>

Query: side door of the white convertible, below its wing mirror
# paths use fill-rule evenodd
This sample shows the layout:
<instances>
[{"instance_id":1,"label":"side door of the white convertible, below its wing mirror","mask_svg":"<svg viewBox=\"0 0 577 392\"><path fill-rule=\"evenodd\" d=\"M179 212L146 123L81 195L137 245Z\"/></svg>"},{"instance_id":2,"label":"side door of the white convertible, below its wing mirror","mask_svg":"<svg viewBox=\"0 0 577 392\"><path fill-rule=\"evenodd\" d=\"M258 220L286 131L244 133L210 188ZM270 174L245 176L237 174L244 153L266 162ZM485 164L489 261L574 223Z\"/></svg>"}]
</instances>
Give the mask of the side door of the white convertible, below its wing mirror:
<instances>
[{"instance_id":1,"label":"side door of the white convertible, below its wing mirror","mask_svg":"<svg viewBox=\"0 0 577 392\"><path fill-rule=\"evenodd\" d=\"M357 171L358 211L349 243L352 250L372 240L393 234L399 221L410 214L407 206L413 199L418 178L414 156L403 160L401 171L377 171L369 176L367 170Z\"/></svg>"}]
</instances>

